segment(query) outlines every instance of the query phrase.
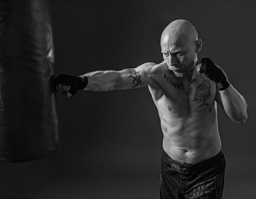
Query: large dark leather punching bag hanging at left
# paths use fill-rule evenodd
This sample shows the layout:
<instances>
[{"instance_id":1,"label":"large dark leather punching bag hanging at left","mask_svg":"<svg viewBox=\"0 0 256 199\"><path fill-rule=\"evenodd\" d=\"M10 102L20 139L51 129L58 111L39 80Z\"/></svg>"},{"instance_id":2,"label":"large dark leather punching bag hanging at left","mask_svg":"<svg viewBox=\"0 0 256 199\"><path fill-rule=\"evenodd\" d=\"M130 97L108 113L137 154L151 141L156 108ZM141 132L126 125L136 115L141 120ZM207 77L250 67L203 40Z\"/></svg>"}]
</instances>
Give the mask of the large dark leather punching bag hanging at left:
<instances>
[{"instance_id":1,"label":"large dark leather punching bag hanging at left","mask_svg":"<svg viewBox=\"0 0 256 199\"><path fill-rule=\"evenodd\" d=\"M60 148L47 0L0 0L0 159L25 162Z\"/></svg>"}]
</instances>

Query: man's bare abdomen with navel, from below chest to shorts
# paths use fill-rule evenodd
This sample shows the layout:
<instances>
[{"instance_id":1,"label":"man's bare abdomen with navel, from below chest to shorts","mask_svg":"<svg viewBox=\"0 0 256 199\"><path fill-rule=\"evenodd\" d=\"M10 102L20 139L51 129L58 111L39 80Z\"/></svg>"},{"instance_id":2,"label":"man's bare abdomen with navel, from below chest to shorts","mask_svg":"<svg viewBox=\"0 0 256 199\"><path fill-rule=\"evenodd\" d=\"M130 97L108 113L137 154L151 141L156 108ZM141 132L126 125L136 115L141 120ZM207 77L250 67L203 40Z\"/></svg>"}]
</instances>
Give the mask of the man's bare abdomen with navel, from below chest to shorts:
<instances>
[{"instance_id":1,"label":"man's bare abdomen with navel, from below chest to shorts","mask_svg":"<svg viewBox=\"0 0 256 199\"><path fill-rule=\"evenodd\" d=\"M218 154L221 139L217 111L204 117L185 118L169 126L161 120L163 149L174 160L194 164Z\"/></svg>"}]
</instances>

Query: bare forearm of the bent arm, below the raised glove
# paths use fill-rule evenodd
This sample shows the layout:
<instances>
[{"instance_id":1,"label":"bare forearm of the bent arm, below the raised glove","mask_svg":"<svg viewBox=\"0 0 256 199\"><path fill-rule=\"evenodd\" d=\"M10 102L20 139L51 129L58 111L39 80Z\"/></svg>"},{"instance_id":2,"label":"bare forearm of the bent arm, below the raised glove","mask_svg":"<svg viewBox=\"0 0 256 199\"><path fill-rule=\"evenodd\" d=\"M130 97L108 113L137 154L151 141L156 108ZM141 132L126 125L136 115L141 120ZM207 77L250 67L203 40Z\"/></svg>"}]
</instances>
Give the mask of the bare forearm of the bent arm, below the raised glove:
<instances>
[{"instance_id":1,"label":"bare forearm of the bent arm, below the raised glove","mask_svg":"<svg viewBox=\"0 0 256 199\"><path fill-rule=\"evenodd\" d=\"M247 120L247 104L244 97L230 84L220 91L222 103L226 114L236 123L244 123Z\"/></svg>"}]
</instances>

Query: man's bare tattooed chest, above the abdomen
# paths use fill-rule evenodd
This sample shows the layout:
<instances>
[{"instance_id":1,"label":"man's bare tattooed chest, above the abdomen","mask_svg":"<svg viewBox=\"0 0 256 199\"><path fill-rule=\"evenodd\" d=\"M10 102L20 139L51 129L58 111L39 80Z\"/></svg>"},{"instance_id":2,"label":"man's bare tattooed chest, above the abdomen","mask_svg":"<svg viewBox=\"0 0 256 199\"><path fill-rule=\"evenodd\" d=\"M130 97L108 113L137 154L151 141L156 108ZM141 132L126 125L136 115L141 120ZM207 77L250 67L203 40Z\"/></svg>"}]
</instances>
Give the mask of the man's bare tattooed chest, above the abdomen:
<instances>
[{"instance_id":1,"label":"man's bare tattooed chest, above the abdomen","mask_svg":"<svg viewBox=\"0 0 256 199\"><path fill-rule=\"evenodd\" d=\"M150 90L155 104L173 113L211 112L215 104L216 84L206 77L187 83L165 73Z\"/></svg>"}]
</instances>

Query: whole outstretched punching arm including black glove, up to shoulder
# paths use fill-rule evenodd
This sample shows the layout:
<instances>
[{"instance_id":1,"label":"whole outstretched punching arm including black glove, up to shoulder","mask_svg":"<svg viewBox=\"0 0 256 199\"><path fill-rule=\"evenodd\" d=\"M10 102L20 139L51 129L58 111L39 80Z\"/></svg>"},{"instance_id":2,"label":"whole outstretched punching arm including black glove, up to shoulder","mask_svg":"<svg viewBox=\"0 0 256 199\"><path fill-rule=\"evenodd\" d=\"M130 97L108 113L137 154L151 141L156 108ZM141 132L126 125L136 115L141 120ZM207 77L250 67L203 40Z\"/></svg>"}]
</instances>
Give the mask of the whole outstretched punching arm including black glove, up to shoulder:
<instances>
[{"instance_id":1,"label":"whole outstretched punching arm including black glove, up to shoulder","mask_svg":"<svg viewBox=\"0 0 256 199\"><path fill-rule=\"evenodd\" d=\"M106 70L93 71L75 77L60 74L54 80L56 92L68 97L78 90L109 91L129 88L140 88L154 82L159 65L152 62L141 64L136 68L127 68L120 71Z\"/></svg>"}]
</instances>

